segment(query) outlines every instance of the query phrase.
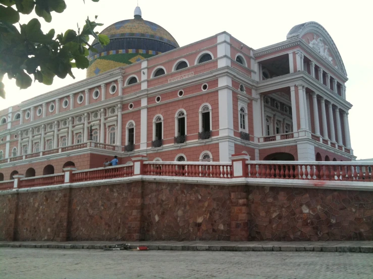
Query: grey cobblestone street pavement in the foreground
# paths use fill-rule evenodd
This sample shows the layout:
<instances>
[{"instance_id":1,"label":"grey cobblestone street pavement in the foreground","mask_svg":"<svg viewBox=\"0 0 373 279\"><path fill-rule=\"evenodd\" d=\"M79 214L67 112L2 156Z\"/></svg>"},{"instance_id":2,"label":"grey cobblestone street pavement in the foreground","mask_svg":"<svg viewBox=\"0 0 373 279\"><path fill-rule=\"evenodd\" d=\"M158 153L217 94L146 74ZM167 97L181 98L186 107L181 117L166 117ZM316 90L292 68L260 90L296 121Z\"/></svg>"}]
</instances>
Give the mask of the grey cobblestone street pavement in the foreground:
<instances>
[{"instance_id":1,"label":"grey cobblestone street pavement in the foreground","mask_svg":"<svg viewBox=\"0 0 373 279\"><path fill-rule=\"evenodd\" d=\"M0 248L0 278L372 278L373 254Z\"/></svg>"}]
</instances>

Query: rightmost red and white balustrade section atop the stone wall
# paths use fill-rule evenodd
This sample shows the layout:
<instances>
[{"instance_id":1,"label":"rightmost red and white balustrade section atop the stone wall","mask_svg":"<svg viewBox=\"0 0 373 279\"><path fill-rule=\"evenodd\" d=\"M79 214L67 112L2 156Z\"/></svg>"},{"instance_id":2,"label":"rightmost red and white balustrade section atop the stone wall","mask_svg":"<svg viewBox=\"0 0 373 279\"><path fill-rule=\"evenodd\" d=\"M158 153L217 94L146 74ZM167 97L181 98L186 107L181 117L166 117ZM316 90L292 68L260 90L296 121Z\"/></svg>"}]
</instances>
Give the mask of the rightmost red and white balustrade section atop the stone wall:
<instances>
[{"instance_id":1,"label":"rightmost red and white balustrade section atop the stone wall","mask_svg":"<svg viewBox=\"0 0 373 279\"><path fill-rule=\"evenodd\" d=\"M249 161L248 161L249 162ZM371 165L308 163L248 163L250 178L328 181L373 181Z\"/></svg>"}]
</instances>

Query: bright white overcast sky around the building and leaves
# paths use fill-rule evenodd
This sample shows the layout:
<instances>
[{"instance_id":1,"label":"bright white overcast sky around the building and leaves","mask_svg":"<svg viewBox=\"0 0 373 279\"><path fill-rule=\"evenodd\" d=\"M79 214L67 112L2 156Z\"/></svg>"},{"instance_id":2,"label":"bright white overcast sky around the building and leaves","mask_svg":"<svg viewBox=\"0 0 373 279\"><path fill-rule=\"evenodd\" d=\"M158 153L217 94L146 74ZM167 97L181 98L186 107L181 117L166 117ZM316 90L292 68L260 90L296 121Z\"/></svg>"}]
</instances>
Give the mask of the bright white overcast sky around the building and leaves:
<instances>
[{"instance_id":1,"label":"bright white overcast sky around the building and leaves","mask_svg":"<svg viewBox=\"0 0 373 279\"><path fill-rule=\"evenodd\" d=\"M65 0L63 14L52 13L52 22L42 23L44 33L55 28L56 33L83 26L87 16L103 23L103 28L124 19L132 19L137 1ZM304 4L303 4L304 3ZM316 21L332 36L344 61L349 81L346 83L347 101L353 104L349 114L352 148L357 159L373 158L373 109L371 80L373 79L373 42L371 4L368 1L210 1L210 0L140 0L145 20L168 30L180 46L227 31L246 45L257 49L286 40L288 31L297 24ZM32 17L23 17L27 23ZM367 54L365 52L368 52ZM7 99L0 99L0 110L34 96L60 88L85 78L85 70L73 71L76 79L55 78L54 84L36 83L27 90L19 90L15 80L4 78Z\"/></svg>"}]
</instances>

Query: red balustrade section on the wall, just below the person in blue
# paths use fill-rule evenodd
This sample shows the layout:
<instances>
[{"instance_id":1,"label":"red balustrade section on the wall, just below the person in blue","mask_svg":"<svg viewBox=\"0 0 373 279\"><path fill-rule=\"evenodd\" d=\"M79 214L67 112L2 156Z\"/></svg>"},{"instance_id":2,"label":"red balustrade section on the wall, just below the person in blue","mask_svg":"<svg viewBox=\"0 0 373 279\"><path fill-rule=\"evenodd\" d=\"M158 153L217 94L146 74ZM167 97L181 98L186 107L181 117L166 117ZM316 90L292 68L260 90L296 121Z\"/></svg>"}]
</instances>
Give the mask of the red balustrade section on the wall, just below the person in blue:
<instances>
[{"instance_id":1,"label":"red balustrade section on the wall, just below the person in blue","mask_svg":"<svg viewBox=\"0 0 373 279\"><path fill-rule=\"evenodd\" d=\"M72 182L85 182L133 175L133 166L119 166L77 171L72 174Z\"/></svg>"}]
</instances>

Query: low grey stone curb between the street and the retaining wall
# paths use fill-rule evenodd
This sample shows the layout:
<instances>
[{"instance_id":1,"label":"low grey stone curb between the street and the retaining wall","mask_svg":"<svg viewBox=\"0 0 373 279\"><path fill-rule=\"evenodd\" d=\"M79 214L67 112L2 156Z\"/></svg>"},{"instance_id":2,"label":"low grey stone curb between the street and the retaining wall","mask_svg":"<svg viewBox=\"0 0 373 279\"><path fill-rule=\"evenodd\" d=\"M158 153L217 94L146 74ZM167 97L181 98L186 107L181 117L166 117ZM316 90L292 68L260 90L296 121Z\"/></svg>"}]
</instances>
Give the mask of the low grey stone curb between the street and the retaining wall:
<instances>
[{"instance_id":1,"label":"low grey stone curb between the street and the retaining wall","mask_svg":"<svg viewBox=\"0 0 373 279\"><path fill-rule=\"evenodd\" d=\"M115 245L115 244L114 244ZM113 244L32 244L0 243L0 247L9 248L51 248L51 249L105 249ZM130 249L139 245L129 244ZM149 250L172 251L230 251L230 252L340 252L340 253L373 253L373 246L320 246L320 245L183 245L183 244L149 244Z\"/></svg>"}]
</instances>

